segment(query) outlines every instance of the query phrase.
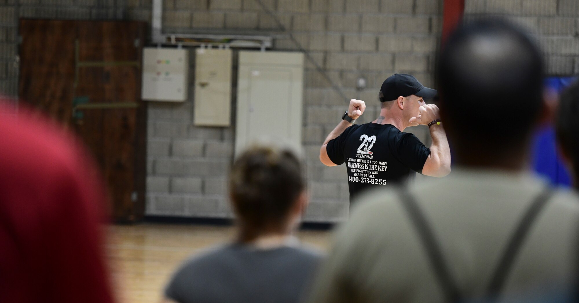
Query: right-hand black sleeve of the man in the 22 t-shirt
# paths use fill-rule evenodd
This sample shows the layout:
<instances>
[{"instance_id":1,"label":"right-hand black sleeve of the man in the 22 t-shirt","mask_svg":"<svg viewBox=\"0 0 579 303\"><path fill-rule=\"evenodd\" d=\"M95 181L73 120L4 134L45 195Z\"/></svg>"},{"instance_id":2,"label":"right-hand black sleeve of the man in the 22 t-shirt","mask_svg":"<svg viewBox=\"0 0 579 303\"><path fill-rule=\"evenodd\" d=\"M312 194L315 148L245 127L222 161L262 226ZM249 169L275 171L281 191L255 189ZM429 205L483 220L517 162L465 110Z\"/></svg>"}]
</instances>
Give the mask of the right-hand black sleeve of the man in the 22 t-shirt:
<instances>
[{"instance_id":1,"label":"right-hand black sleeve of the man in the 22 t-shirt","mask_svg":"<svg viewBox=\"0 0 579 303\"><path fill-rule=\"evenodd\" d=\"M404 165L410 167L417 173L422 174L422 169L426 159L430 155L430 148L424 146L416 136L411 133L398 134L398 140L392 151L394 156Z\"/></svg>"}]
</instances>

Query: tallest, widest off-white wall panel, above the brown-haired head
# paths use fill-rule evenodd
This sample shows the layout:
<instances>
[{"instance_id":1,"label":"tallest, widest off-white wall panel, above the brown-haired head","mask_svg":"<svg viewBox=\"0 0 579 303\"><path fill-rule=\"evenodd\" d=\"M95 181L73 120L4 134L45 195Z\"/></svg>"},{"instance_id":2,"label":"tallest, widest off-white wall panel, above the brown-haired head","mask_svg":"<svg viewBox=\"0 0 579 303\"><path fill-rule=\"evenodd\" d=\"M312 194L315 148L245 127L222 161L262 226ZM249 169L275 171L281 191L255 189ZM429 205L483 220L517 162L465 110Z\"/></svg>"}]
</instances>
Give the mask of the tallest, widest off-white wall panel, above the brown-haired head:
<instances>
[{"instance_id":1,"label":"tallest, widest off-white wall panel, above the brown-haired head","mask_svg":"<svg viewBox=\"0 0 579 303\"><path fill-rule=\"evenodd\" d=\"M235 152L254 143L302 149L303 54L239 52Z\"/></svg>"}]
</instances>

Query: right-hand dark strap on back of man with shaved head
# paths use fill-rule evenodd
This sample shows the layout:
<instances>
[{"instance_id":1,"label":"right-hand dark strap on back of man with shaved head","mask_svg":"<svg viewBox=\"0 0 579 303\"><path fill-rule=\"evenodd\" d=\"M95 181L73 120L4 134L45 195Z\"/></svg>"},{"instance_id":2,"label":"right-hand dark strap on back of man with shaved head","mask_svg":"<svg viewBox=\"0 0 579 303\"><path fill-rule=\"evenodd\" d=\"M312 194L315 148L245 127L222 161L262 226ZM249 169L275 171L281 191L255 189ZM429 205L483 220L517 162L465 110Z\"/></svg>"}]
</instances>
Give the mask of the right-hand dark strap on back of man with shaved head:
<instances>
[{"instance_id":1,"label":"right-hand dark strap on back of man with shaved head","mask_svg":"<svg viewBox=\"0 0 579 303\"><path fill-rule=\"evenodd\" d=\"M519 221L515 231L512 233L509 242L507 242L507 247L505 247L503 255L500 258L497 267L494 269L489 286L487 287L487 294L491 301L496 300L496 298L499 297L499 294L503 290L504 284L507 281L508 274L514 265L516 256L521 250L526 236L529 234L529 230L533 227L533 223L536 222L541 210L545 208L545 205L553 194L554 190L551 189L551 187L545 187L537 198L533 200L526 213L521 218L521 221Z\"/></svg>"}]
</instances>

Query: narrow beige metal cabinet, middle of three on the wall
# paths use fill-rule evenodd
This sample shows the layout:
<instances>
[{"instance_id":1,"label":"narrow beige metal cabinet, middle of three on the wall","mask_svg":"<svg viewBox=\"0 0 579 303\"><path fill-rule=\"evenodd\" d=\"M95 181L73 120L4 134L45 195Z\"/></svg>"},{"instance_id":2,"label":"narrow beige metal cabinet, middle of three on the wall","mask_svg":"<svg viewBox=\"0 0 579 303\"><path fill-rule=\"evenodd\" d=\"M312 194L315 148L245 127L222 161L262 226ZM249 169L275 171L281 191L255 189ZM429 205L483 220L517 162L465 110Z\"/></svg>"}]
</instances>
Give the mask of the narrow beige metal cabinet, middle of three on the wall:
<instances>
[{"instance_id":1,"label":"narrow beige metal cabinet, middle of three on the wall","mask_svg":"<svg viewBox=\"0 0 579 303\"><path fill-rule=\"evenodd\" d=\"M231 66L230 49L196 49L195 125L231 125Z\"/></svg>"}]
</instances>

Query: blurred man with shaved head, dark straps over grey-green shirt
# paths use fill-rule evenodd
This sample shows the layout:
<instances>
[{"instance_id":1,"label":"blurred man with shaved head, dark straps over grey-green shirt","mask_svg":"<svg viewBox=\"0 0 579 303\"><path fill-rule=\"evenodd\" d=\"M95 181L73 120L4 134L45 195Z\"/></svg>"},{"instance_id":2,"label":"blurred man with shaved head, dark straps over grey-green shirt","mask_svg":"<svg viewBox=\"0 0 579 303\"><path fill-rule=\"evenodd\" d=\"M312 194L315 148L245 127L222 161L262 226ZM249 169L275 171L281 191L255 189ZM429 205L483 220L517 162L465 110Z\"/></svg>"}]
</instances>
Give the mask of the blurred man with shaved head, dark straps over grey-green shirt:
<instances>
[{"instance_id":1,"label":"blurred man with shaved head, dark straps over grey-green shirt","mask_svg":"<svg viewBox=\"0 0 579 303\"><path fill-rule=\"evenodd\" d=\"M507 21L474 21L450 36L437 79L456 166L360 196L311 302L571 299L579 197L527 164L545 118L543 67L532 39Z\"/></svg>"}]
</instances>

